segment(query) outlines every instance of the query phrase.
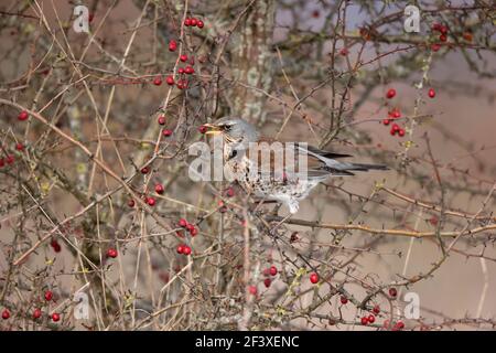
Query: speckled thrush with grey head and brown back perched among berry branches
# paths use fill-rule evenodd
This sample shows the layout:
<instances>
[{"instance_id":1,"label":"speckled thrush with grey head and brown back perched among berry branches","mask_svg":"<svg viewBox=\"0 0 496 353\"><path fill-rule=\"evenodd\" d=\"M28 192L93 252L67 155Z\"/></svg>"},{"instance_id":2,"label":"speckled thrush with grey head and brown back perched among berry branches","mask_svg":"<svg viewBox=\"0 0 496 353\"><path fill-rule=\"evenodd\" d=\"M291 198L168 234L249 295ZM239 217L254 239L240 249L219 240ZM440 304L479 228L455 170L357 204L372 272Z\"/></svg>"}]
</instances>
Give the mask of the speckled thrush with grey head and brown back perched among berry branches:
<instances>
[{"instance_id":1,"label":"speckled thrush with grey head and brown back perched among berry branches","mask_svg":"<svg viewBox=\"0 0 496 353\"><path fill-rule=\"evenodd\" d=\"M304 142L285 142L283 162L277 164L273 153L266 159L261 156L270 152L268 145L260 146L278 141L262 138L254 125L240 117L223 117L203 128L206 135L223 137L224 170L234 175L247 193L265 201L280 202L291 214L299 211L300 202L312 189L330 176L389 169L384 164L338 161L352 156L325 151ZM279 173L274 170L277 165L282 169ZM306 167L304 173L296 170L299 167Z\"/></svg>"}]
</instances>

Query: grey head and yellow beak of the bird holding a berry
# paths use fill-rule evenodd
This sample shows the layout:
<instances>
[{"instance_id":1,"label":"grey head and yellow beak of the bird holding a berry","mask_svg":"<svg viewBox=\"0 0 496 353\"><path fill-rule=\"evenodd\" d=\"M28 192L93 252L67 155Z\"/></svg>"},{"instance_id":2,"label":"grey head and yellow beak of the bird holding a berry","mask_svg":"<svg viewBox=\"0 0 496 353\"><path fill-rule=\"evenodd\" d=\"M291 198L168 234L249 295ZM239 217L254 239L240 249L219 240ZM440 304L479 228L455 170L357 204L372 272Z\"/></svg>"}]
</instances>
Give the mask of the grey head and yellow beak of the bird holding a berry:
<instances>
[{"instance_id":1,"label":"grey head and yellow beak of the bird holding a berry","mask_svg":"<svg viewBox=\"0 0 496 353\"><path fill-rule=\"evenodd\" d=\"M222 133L226 143L237 143L242 148L248 148L250 142L259 139L255 126L237 117L224 117L205 126L208 128L206 133Z\"/></svg>"}]
</instances>

